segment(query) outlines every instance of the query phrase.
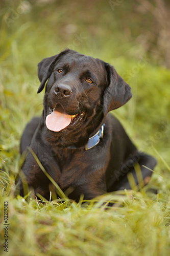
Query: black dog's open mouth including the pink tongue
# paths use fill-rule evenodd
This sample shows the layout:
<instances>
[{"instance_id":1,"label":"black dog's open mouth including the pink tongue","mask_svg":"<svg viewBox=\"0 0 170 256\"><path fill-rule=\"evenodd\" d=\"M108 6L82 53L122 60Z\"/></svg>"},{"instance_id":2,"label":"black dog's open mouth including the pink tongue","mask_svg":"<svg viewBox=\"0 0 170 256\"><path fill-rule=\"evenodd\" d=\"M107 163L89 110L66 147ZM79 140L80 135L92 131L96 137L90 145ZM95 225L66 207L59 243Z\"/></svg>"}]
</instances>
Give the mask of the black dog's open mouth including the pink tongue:
<instances>
[{"instance_id":1,"label":"black dog's open mouth including the pink tongue","mask_svg":"<svg viewBox=\"0 0 170 256\"><path fill-rule=\"evenodd\" d=\"M85 111L68 115L62 106L56 106L54 109L50 109L49 114L46 116L45 124L48 130L53 132L60 132L65 128L75 127L85 116Z\"/></svg>"}]
</instances>

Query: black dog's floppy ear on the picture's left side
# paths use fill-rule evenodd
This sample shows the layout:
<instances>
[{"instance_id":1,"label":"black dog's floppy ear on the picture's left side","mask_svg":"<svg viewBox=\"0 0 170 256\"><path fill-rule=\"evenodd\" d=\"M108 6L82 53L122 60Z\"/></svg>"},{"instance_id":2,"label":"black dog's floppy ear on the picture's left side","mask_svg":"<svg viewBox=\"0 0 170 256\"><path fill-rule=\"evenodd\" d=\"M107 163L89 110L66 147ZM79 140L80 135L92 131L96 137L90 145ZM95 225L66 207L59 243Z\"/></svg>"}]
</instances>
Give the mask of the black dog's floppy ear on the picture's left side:
<instances>
[{"instance_id":1,"label":"black dog's floppy ear on the picture's left side","mask_svg":"<svg viewBox=\"0 0 170 256\"><path fill-rule=\"evenodd\" d=\"M45 58L38 63L38 78L41 84L40 84L40 87L38 88L37 93L40 93L44 89L45 82L50 77L53 71L58 55L59 54L52 56L50 58Z\"/></svg>"}]
</instances>

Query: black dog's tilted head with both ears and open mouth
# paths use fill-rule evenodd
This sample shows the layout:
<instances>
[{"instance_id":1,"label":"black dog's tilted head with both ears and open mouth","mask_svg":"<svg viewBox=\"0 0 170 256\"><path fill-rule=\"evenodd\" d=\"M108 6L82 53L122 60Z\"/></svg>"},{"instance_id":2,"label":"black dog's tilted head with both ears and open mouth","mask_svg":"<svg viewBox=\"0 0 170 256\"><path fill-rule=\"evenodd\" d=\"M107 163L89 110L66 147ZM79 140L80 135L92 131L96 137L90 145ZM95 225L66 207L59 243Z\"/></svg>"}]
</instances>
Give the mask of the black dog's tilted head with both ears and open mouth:
<instances>
[{"instance_id":1,"label":"black dog's tilted head with both ears and open mouth","mask_svg":"<svg viewBox=\"0 0 170 256\"><path fill-rule=\"evenodd\" d=\"M43 59L38 64L38 77L38 93L48 80L45 123L56 133L83 129L92 118L104 118L132 97L130 86L114 67L69 49Z\"/></svg>"}]
</instances>

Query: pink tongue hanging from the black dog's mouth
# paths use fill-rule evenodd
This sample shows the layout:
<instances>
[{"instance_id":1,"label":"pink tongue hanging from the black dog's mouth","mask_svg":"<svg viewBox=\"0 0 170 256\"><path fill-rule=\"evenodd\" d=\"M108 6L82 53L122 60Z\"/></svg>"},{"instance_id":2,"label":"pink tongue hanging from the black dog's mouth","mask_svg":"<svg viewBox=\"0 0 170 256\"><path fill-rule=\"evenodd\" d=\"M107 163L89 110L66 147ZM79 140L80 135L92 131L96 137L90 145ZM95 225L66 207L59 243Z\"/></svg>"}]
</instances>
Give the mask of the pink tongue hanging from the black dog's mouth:
<instances>
[{"instance_id":1,"label":"pink tongue hanging from the black dog's mouth","mask_svg":"<svg viewBox=\"0 0 170 256\"><path fill-rule=\"evenodd\" d=\"M71 116L66 114L63 109L60 112L54 110L46 117L45 123L48 130L59 132L71 122Z\"/></svg>"}]
</instances>

